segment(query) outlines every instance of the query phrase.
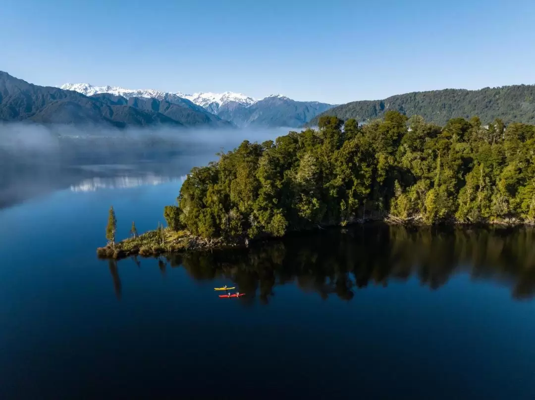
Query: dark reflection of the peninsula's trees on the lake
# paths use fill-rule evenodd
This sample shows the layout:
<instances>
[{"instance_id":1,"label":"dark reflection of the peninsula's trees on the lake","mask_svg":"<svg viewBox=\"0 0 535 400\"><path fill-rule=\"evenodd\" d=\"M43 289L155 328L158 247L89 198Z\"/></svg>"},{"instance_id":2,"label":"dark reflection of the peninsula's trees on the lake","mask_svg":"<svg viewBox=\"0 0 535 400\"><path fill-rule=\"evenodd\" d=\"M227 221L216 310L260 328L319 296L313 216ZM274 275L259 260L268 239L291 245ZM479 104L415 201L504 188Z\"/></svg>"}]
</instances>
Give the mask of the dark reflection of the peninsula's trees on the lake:
<instances>
[{"instance_id":1,"label":"dark reflection of the peninsula's trees on the lake","mask_svg":"<svg viewBox=\"0 0 535 400\"><path fill-rule=\"evenodd\" d=\"M345 233L327 230L284 240L257 243L247 249L189 252L158 259L163 274L169 265L185 268L194 280L230 279L245 304L264 304L276 287L295 283L326 299L349 301L369 285L387 287L416 277L435 290L452 276L495 281L511 289L515 299L535 294L535 229L406 228L382 224L354 227ZM140 261L134 259L135 265ZM132 267L132 260L119 264ZM117 264L110 264L116 295L121 284Z\"/></svg>"}]
</instances>

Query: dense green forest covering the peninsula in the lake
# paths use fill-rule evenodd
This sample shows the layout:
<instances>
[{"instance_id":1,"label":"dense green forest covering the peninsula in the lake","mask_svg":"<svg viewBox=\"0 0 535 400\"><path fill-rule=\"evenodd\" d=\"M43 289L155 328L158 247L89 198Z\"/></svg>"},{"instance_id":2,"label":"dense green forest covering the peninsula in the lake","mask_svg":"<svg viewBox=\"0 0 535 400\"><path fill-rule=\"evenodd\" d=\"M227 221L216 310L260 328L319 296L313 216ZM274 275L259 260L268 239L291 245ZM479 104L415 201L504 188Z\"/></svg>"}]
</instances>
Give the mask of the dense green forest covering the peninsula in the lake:
<instances>
[{"instance_id":1,"label":"dense green forest covering the peninsula in the lake","mask_svg":"<svg viewBox=\"0 0 535 400\"><path fill-rule=\"evenodd\" d=\"M319 129L244 141L193 168L171 229L196 236L282 236L368 219L419 224L535 220L535 126L387 111L384 120L322 117Z\"/></svg>"}]
</instances>

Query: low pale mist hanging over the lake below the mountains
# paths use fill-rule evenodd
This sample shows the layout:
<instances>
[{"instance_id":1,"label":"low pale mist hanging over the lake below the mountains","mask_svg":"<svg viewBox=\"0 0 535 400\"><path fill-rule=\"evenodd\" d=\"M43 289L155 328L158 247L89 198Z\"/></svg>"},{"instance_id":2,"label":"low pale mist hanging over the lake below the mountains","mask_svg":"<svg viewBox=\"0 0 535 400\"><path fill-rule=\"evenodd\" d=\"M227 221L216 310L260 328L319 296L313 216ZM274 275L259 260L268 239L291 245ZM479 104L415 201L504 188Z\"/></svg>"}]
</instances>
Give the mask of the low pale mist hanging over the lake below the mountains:
<instances>
[{"instance_id":1,"label":"low pale mist hanging over the lake below the mountains","mask_svg":"<svg viewBox=\"0 0 535 400\"><path fill-rule=\"evenodd\" d=\"M181 179L243 140L290 129L97 129L0 125L0 207L50 191ZM123 183L121 183L123 182ZM137 182L137 183L135 183Z\"/></svg>"}]
</instances>

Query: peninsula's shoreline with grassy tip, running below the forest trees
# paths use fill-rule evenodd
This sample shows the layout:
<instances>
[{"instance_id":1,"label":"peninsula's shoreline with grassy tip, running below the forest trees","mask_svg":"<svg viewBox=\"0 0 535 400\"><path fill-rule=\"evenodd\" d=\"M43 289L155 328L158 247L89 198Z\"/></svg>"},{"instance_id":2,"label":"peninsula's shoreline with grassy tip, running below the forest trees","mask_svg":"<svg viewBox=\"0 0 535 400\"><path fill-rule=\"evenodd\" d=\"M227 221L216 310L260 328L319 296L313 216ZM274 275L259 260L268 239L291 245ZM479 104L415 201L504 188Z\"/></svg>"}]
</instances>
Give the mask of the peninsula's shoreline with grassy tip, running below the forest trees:
<instances>
[{"instance_id":1,"label":"peninsula's shoreline with grassy tip, running below the forest trees","mask_svg":"<svg viewBox=\"0 0 535 400\"><path fill-rule=\"evenodd\" d=\"M208 250L223 250L223 249L235 249L248 247L248 242L257 242L262 240L276 240L283 239L291 235L300 233L311 233L315 230L332 230L339 228L340 230L346 230L348 227L364 226L370 224L385 224L392 226L406 226L408 228L416 227L464 227L464 228L484 228L484 227L502 227L513 228L519 226L535 226L535 221L523 221L516 218L500 219L492 221L479 221L479 222L460 222L460 221L445 221L441 224L426 225L419 223L417 219L401 220L399 218L392 218L392 216L386 216L384 218L371 218L365 220L355 220L348 222L345 225L333 224L315 226L305 230L295 230L288 232L282 237L265 236L257 239L247 239L245 234L237 237L224 238L217 237L212 239L204 239L199 236L195 236L189 233L187 230L172 230L169 227L163 228L160 232L158 230L148 230L136 237L128 237L121 240L114 245L107 244L104 247L98 247L96 249L97 257L100 259L123 259L131 256L141 257L159 257L165 253L185 253L187 251L208 251Z\"/></svg>"}]
</instances>

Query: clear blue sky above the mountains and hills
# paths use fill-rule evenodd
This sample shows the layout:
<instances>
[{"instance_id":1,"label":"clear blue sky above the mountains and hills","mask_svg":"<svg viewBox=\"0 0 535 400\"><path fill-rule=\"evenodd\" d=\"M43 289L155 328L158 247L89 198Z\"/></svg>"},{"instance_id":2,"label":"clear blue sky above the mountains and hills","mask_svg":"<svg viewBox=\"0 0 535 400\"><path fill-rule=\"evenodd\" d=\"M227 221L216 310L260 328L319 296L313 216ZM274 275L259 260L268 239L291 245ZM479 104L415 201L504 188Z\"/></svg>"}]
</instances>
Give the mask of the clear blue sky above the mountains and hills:
<instances>
[{"instance_id":1,"label":"clear blue sky above the mountains and hills","mask_svg":"<svg viewBox=\"0 0 535 400\"><path fill-rule=\"evenodd\" d=\"M36 84L345 103L535 83L535 0L3 0L0 70Z\"/></svg>"}]
</instances>

